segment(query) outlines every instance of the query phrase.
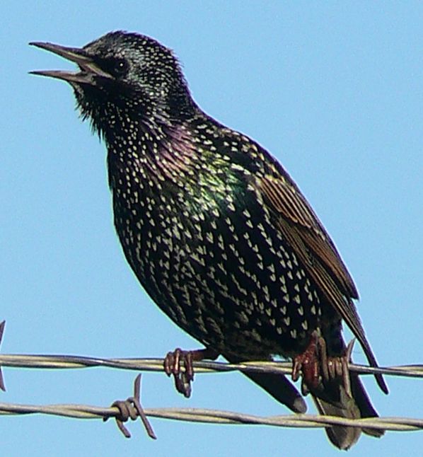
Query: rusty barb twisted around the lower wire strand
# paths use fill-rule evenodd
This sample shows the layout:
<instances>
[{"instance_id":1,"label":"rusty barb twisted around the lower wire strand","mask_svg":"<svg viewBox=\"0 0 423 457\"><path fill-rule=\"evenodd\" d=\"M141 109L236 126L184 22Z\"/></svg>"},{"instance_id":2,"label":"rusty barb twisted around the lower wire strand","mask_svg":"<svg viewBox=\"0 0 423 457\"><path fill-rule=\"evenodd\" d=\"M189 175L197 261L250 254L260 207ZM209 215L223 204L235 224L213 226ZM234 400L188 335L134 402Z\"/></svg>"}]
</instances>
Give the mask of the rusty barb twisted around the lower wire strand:
<instances>
[{"instance_id":1,"label":"rusty barb twisted around the lower wire strand","mask_svg":"<svg viewBox=\"0 0 423 457\"><path fill-rule=\"evenodd\" d=\"M118 412L114 415L103 417L103 422L110 419L110 417L115 417L117 427L119 427L120 431L126 438L130 438L131 434L127 427L124 426L124 422L127 420L137 420L137 417L141 419L147 434L152 439L156 439L156 434L153 431L153 427L149 420L146 417L143 407L141 406L141 374L139 374L134 381L134 396L129 397L126 400L116 400L112 403L111 407L117 408Z\"/></svg>"}]
</instances>

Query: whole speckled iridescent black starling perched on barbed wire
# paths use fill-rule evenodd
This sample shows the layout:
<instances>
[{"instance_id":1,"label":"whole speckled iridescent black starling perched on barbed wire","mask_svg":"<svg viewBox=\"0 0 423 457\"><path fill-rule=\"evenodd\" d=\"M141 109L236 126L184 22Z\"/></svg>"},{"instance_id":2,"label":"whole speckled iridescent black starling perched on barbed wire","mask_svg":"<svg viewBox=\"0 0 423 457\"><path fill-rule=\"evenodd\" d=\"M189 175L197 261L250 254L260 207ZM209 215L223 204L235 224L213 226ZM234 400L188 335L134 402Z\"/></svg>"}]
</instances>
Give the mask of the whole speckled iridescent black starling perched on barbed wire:
<instances>
[{"instance_id":1,"label":"whole speckled iridescent black starling perched on barbed wire","mask_svg":"<svg viewBox=\"0 0 423 457\"><path fill-rule=\"evenodd\" d=\"M79 71L33 71L71 84L83 119L103 137L114 223L151 299L206 349L168 354L180 391L192 359L294 361L294 381L322 414L376 417L342 320L377 366L353 300L352 277L282 165L257 142L203 112L178 59L156 40L112 32L88 45L33 42ZM180 361L188 374L179 376ZM303 398L280 374L245 373L295 412ZM179 376L179 377L178 377ZM376 380L388 393L380 375ZM189 395L189 391L185 390ZM361 432L327 427L348 449Z\"/></svg>"}]
</instances>

